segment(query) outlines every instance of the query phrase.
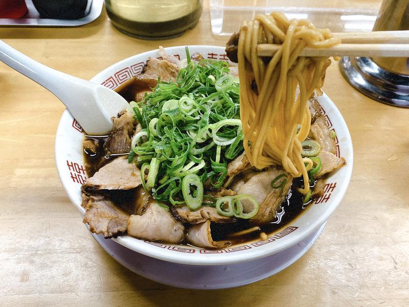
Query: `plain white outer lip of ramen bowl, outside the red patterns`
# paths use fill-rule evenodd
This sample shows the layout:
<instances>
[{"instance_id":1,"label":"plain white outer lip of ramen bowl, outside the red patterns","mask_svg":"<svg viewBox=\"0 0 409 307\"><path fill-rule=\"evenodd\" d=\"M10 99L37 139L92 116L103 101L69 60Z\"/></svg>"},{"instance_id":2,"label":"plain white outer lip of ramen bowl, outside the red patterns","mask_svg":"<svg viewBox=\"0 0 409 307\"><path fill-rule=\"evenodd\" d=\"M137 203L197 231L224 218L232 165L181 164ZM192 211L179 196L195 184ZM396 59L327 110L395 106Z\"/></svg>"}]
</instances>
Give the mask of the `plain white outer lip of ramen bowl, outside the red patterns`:
<instances>
[{"instance_id":1,"label":"plain white outer lip of ramen bowl, outside the red patterns","mask_svg":"<svg viewBox=\"0 0 409 307\"><path fill-rule=\"evenodd\" d=\"M217 50L217 51L224 52L224 47L214 46L214 45L188 45L188 47L191 50L209 49L209 50ZM185 46L173 46L173 47L165 48L165 50L169 54L173 54L174 52L180 52L181 49L184 50ZM133 55L131 57L123 59L105 68L100 73L98 73L95 77L93 77L90 81L101 83L103 82L103 80L107 79L112 74L112 72L116 72L117 69L122 68L124 64L132 61L133 59L138 59L138 60L140 58L147 59L149 56L152 56L153 54L157 54L157 52L158 52L158 49L151 50L151 51L147 51L147 52ZM123 237L112 238L111 240L114 240L117 243L135 252L139 252L144 255L151 256L157 259L161 259L163 261L172 262L172 263L180 263L180 264L188 264L188 265L209 266L209 265L227 265L227 264L243 263L243 262L263 258L269 255L281 252L295 244L298 244L299 242L307 238L308 235L310 235L313 231L317 230L319 227L321 227L321 225L323 225L328 220L328 218L335 211L339 203L342 201L347 191L349 182L351 180L352 169L353 169L353 147L352 147L351 135L348 130L347 124L342 114L336 108L335 104L325 93L323 94L323 96L320 97L320 99L325 101L326 104L329 105L331 112L333 113L332 118L336 118L337 124L340 127L342 127L343 133L345 134L344 138L346 138L344 140L345 143L343 146L343 156L348 157L348 160L347 160L347 164L343 167L343 169L345 168L346 171L345 171L345 176L342 177L343 178L342 184L340 185L339 190L337 194L335 195L335 197L330 200L330 203L332 205L328 206L328 208L319 216L319 218L312 221L306 227L304 231L299 231L297 235L292 236L292 237L290 236L291 237L290 239L287 238L287 240L283 240L283 241L280 240L280 242L277 241L278 243L274 245L274 248L253 248L252 252L246 252L244 254L241 254L240 252L239 253L222 253L222 254L200 253L199 257L197 257L199 253L196 253L196 256L192 256L192 254L189 254L189 253L185 253L185 252L174 253L174 252L168 251L166 248L157 248L157 246L150 245L150 244L139 244L139 243L144 243L147 241L142 240L142 239L132 238L127 235ZM66 128L65 126L66 126L67 119L73 121L73 117L71 116L69 111L65 110L61 116L61 119L60 119L60 122L57 128L56 138L55 138L55 155L56 155L57 172L58 172L61 184L64 187L65 192L69 196L71 202L77 207L77 209L81 212L83 216L85 213L85 210L83 207L81 207L81 204L77 203L76 198L74 197L74 194L70 190L69 186L64 184L66 182L66 178L62 177L62 168L58 161L59 160L58 155L60 153L58 149L60 149L61 147L62 148L65 147L65 144L62 143L60 136L64 134L64 129ZM139 242L139 243L136 243L136 242ZM177 246L177 245L174 245L174 246ZM271 246L271 245L268 245L268 246ZM199 249L199 248L196 248L196 249ZM165 250L166 252L164 252Z\"/></svg>"}]
</instances>

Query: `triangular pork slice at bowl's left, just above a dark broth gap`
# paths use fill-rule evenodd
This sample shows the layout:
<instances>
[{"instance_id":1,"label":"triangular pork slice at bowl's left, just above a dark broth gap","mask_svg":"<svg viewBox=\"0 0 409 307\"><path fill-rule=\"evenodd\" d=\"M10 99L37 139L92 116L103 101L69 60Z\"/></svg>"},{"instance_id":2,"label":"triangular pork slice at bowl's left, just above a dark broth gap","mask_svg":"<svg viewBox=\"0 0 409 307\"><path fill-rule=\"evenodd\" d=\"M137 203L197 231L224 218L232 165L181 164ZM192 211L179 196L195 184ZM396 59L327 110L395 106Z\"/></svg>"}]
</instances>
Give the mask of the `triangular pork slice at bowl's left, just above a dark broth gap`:
<instances>
[{"instance_id":1,"label":"triangular pork slice at bowl's left, just above a dark broth gap","mask_svg":"<svg viewBox=\"0 0 409 307\"><path fill-rule=\"evenodd\" d=\"M129 190L142 184L140 173L134 163L128 163L128 157L119 157L88 178L82 185L82 191Z\"/></svg>"}]
</instances>

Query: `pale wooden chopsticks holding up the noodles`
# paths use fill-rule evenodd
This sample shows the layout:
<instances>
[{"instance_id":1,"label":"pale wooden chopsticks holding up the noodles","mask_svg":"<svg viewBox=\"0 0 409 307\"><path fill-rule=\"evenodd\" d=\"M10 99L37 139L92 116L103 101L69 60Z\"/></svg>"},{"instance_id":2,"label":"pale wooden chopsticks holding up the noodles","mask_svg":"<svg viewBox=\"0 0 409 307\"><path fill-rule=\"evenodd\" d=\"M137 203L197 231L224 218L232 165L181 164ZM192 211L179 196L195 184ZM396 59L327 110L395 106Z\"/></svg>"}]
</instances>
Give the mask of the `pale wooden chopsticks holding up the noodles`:
<instances>
[{"instance_id":1,"label":"pale wooden chopsticks holding up the noodles","mask_svg":"<svg viewBox=\"0 0 409 307\"><path fill-rule=\"evenodd\" d=\"M342 43L331 48L305 48L305 57L409 57L409 31L334 33ZM273 56L281 45L259 44L259 56Z\"/></svg>"}]
</instances>

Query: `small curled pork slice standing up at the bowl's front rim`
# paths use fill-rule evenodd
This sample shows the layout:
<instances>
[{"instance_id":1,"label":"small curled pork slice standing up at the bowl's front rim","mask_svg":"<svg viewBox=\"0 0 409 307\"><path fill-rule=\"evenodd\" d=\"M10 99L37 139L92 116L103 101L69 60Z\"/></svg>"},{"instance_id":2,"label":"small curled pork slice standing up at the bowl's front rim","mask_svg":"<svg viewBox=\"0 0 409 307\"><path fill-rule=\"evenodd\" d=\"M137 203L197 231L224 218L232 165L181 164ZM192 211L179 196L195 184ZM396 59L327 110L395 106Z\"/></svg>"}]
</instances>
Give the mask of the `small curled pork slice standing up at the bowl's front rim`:
<instances>
[{"instance_id":1,"label":"small curled pork slice standing up at the bowl's front rim","mask_svg":"<svg viewBox=\"0 0 409 307\"><path fill-rule=\"evenodd\" d=\"M188 229L188 242L202 248L224 248L231 244L228 241L214 241L210 230L210 221L193 225Z\"/></svg>"}]
</instances>

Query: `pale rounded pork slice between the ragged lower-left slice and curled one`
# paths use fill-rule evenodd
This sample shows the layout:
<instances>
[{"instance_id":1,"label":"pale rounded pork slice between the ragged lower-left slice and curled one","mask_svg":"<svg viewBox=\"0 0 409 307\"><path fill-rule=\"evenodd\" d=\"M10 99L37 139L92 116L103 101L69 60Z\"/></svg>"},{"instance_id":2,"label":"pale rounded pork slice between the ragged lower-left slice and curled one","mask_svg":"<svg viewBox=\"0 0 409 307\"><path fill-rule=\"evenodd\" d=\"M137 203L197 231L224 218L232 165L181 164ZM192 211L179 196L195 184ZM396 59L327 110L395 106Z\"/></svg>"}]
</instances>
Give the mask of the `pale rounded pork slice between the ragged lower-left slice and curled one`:
<instances>
[{"instance_id":1,"label":"pale rounded pork slice between the ragged lower-left slice and curled one","mask_svg":"<svg viewBox=\"0 0 409 307\"><path fill-rule=\"evenodd\" d=\"M185 226L156 201L152 201L142 215L131 215L127 228L132 237L150 241L178 243L185 238Z\"/></svg>"}]
</instances>

